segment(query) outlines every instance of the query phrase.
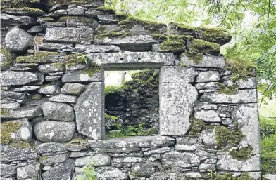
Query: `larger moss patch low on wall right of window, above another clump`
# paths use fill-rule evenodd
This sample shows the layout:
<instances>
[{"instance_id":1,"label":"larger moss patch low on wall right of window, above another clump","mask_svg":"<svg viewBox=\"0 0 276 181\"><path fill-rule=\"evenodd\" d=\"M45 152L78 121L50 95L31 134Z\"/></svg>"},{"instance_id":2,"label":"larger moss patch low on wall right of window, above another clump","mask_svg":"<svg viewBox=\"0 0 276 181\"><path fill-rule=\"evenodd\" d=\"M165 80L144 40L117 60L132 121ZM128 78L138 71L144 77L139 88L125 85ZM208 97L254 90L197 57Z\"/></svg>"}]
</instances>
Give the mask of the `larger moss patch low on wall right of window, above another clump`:
<instances>
[{"instance_id":1,"label":"larger moss patch low on wall right of window, above another clump","mask_svg":"<svg viewBox=\"0 0 276 181\"><path fill-rule=\"evenodd\" d=\"M244 137L241 130L229 130L225 126L215 127L215 141L218 148L226 147L228 144L237 146Z\"/></svg>"}]
</instances>

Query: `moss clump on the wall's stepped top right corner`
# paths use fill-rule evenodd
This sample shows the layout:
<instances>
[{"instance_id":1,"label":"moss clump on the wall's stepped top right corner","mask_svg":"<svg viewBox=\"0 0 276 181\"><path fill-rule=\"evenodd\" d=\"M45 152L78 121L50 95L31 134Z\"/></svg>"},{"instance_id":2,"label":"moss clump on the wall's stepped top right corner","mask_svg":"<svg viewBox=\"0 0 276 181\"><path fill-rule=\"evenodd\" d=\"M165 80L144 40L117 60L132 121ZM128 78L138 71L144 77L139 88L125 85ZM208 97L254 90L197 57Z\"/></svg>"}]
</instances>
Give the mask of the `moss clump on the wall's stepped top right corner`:
<instances>
[{"instance_id":1,"label":"moss clump on the wall's stepped top right corner","mask_svg":"<svg viewBox=\"0 0 276 181\"><path fill-rule=\"evenodd\" d=\"M232 71L232 77L231 79L233 81L237 81L239 79L244 79L246 76L249 76L251 72L256 70L256 67L254 65L250 65L244 61L241 60L234 60L234 59L226 59L226 69L229 69Z\"/></svg>"}]
</instances>

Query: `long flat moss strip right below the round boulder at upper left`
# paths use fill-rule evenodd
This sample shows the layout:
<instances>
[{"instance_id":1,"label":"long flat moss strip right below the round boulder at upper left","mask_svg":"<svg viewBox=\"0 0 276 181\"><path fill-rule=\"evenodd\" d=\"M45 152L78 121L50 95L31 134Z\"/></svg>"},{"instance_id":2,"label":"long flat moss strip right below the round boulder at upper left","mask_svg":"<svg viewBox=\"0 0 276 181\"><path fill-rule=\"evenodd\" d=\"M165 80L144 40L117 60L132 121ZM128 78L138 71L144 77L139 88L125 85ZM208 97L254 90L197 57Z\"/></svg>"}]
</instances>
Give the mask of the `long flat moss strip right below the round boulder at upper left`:
<instances>
[{"instance_id":1,"label":"long flat moss strip right below the round boulder at upper left","mask_svg":"<svg viewBox=\"0 0 276 181\"><path fill-rule=\"evenodd\" d=\"M34 55L19 56L16 58L16 62L48 63L53 61L60 61L61 59L68 59L68 55L56 52L38 51Z\"/></svg>"}]
</instances>

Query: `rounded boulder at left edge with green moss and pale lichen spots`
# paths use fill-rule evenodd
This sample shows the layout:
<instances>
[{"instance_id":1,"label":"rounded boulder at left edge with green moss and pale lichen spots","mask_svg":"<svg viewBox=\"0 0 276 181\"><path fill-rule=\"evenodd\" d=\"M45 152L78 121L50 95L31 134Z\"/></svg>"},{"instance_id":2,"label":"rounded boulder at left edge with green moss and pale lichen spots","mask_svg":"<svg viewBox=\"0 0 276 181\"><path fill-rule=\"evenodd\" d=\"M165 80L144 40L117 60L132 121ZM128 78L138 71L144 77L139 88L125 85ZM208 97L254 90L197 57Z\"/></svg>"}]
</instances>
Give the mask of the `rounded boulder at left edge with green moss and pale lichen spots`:
<instances>
[{"instance_id":1,"label":"rounded boulder at left edge with green moss and pale lichen spots","mask_svg":"<svg viewBox=\"0 0 276 181\"><path fill-rule=\"evenodd\" d=\"M11 142L30 142L32 141L32 126L29 121L6 121L1 123L1 140Z\"/></svg>"}]
</instances>

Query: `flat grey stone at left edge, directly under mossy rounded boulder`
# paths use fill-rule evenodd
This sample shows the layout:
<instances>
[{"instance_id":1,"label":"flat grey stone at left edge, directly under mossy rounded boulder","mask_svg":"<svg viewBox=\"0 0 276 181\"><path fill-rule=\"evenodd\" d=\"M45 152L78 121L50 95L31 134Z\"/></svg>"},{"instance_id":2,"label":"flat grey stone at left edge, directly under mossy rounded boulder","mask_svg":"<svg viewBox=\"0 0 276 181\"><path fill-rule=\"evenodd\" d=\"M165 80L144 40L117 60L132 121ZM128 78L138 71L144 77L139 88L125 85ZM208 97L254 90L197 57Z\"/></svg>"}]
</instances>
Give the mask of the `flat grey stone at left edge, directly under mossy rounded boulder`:
<instances>
[{"instance_id":1,"label":"flat grey stone at left edge, directly under mossy rounded boulder","mask_svg":"<svg viewBox=\"0 0 276 181\"><path fill-rule=\"evenodd\" d=\"M37 158L37 153L27 142L1 145L0 149L2 162L24 161Z\"/></svg>"}]
</instances>

